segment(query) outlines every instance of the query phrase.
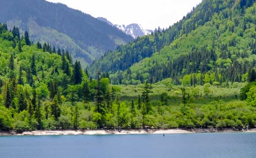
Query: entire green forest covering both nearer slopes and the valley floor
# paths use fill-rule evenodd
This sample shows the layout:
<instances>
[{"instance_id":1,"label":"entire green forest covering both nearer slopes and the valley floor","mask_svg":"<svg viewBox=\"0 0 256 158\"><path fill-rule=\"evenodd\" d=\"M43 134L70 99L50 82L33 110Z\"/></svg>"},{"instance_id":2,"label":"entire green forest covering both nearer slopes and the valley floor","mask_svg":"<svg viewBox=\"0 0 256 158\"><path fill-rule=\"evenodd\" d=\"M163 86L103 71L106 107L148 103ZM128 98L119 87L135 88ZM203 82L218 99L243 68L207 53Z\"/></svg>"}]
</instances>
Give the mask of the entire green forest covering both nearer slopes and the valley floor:
<instances>
[{"instance_id":1,"label":"entire green forest covering both nearer slopes and the valley floor","mask_svg":"<svg viewBox=\"0 0 256 158\"><path fill-rule=\"evenodd\" d=\"M204 0L87 69L0 24L0 130L256 128L253 2Z\"/></svg>"}]
</instances>

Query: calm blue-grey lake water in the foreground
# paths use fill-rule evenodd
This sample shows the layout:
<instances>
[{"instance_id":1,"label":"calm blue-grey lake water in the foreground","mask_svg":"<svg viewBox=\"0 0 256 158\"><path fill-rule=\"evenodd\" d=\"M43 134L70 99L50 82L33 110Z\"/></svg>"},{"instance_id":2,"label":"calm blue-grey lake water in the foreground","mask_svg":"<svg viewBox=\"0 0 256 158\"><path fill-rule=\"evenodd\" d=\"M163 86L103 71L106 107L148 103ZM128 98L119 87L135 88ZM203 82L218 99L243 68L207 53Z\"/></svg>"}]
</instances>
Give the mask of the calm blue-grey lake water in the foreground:
<instances>
[{"instance_id":1,"label":"calm blue-grey lake water in the foreground","mask_svg":"<svg viewBox=\"0 0 256 158\"><path fill-rule=\"evenodd\" d=\"M256 158L256 133L9 136L0 158Z\"/></svg>"}]
</instances>

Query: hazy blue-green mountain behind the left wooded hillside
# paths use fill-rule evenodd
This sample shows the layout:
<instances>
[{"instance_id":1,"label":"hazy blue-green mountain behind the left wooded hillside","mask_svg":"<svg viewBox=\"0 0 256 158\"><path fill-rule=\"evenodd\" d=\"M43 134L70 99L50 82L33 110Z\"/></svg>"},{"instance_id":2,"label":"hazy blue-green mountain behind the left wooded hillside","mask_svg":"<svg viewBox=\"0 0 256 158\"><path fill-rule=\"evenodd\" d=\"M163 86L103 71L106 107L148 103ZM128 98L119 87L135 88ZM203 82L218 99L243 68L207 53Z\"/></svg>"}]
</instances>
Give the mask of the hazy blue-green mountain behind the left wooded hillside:
<instances>
[{"instance_id":1,"label":"hazy blue-green mountain behind the left wooded hillside","mask_svg":"<svg viewBox=\"0 0 256 158\"><path fill-rule=\"evenodd\" d=\"M91 63L131 36L86 13L45 0L0 0L0 22L28 30L31 40L69 50L75 59ZM14 12L15 10L15 12Z\"/></svg>"}]
</instances>

